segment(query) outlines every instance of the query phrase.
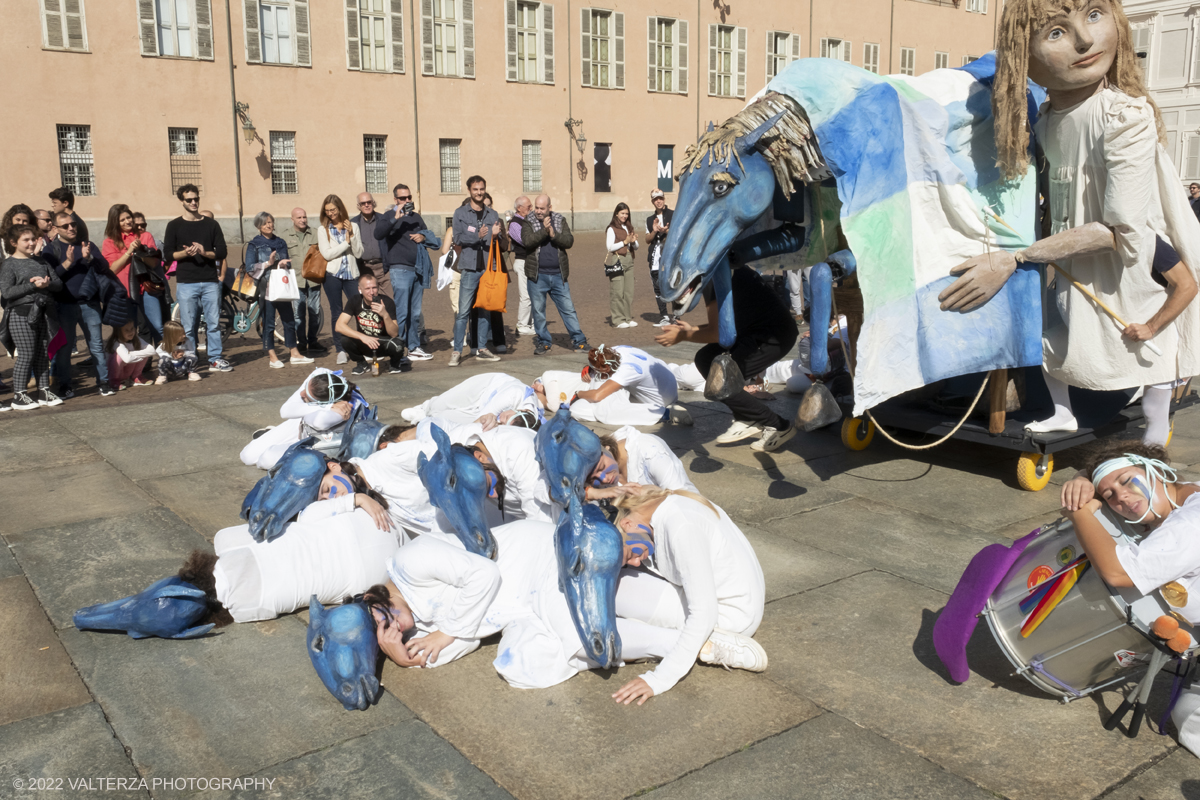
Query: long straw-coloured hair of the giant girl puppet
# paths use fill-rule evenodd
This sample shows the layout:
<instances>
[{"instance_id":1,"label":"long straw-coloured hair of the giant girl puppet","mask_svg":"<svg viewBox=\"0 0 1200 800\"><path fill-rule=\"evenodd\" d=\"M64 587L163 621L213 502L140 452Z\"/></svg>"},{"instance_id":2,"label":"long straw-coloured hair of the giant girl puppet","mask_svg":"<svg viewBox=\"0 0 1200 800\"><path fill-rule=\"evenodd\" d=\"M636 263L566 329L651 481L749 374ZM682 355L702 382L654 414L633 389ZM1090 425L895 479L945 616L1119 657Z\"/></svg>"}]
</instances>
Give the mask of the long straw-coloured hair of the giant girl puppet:
<instances>
[{"instance_id":1,"label":"long straw-coloured hair of the giant girl puppet","mask_svg":"<svg viewBox=\"0 0 1200 800\"><path fill-rule=\"evenodd\" d=\"M1080 0L1009 0L1000 18L996 42L996 80L991 92L992 119L996 121L996 163L1006 180L1014 180L1030 167L1030 124L1026 101L1030 41L1060 11L1072 11ZM1129 19L1120 0L1109 0L1117 28L1117 53L1109 67L1109 84L1130 97L1145 97L1154 109L1158 138L1166 140L1158 106L1146 91L1141 65L1133 49Z\"/></svg>"}]
</instances>

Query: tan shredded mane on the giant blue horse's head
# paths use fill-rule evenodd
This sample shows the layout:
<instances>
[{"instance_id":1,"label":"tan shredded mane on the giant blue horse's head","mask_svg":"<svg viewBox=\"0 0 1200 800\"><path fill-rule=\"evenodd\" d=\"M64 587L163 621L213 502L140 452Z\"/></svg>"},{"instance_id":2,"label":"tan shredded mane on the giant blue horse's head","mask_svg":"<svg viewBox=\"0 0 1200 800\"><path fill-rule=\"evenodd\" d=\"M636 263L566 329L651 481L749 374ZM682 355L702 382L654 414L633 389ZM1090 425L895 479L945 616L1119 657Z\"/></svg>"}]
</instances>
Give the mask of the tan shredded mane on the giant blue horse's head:
<instances>
[{"instance_id":1,"label":"tan shredded mane on the giant blue horse's head","mask_svg":"<svg viewBox=\"0 0 1200 800\"><path fill-rule=\"evenodd\" d=\"M775 181L782 190L784 197L792 197L793 181L815 180L816 174L824 167L824 158L817 149L808 114L794 100L774 91L767 92L725 120L721 127L706 131L696 144L688 145L680 175L689 169L698 169L704 158L709 158L709 163L724 163L728 167L732 157L738 160L740 167L742 157L734 146L736 139L750 133L780 112L784 115L770 132L758 140L758 151L774 170Z\"/></svg>"}]
</instances>

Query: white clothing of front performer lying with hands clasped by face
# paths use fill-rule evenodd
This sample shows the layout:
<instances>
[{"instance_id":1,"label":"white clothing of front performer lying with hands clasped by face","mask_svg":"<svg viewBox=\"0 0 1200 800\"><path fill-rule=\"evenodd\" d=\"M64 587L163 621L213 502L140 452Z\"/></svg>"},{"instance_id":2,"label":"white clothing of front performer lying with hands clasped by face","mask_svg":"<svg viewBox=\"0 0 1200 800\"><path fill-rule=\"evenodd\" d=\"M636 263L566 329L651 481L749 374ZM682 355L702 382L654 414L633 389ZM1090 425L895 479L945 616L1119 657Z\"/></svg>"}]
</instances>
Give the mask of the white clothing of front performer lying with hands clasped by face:
<instances>
[{"instance_id":1,"label":"white clothing of front performer lying with hands clasped by face","mask_svg":"<svg viewBox=\"0 0 1200 800\"><path fill-rule=\"evenodd\" d=\"M595 667L582 656L566 597L558 588L554 525L520 521L492 530L497 559L422 536L388 563L416 625L418 636L442 631L455 637L428 668L473 652L479 640L503 632L493 666L517 688L545 688ZM618 619L628 658L659 658L678 631Z\"/></svg>"}]
</instances>

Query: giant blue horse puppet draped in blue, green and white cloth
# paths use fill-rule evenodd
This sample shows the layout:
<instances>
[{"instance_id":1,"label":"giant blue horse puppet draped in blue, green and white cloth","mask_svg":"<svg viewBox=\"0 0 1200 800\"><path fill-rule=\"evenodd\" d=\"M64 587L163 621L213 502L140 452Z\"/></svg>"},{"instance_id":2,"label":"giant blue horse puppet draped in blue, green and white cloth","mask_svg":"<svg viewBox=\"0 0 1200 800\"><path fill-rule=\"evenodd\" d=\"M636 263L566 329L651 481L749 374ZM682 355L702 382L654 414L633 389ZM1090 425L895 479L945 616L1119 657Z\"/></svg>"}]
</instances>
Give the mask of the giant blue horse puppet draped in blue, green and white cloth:
<instances>
[{"instance_id":1,"label":"giant blue horse puppet draped in blue, green and white cloth","mask_svg":"<svg viewBox=\"0 0 1200 800\"><path fill-rule=\"evenodd\" d=\"M731 249L751 261L803 252L815 240L827 247L830 223L815 200L832 175L863 293L856 414L935 380L1040 365L1036 267L1018 270L967 313L943 312L937 300L952 267L1034 239L1033 168L1006 184L995 167L994 73L992 55L917 78L830 59L793 61L689 148L659 273L662 299L688 308L712 283L720 343L732 345ZM1031 121L1043 97L1030 84ZM770 216L784 224L738 241ZM833 277L826 269L812 276L814 305L821 302L814 330L828 326Z\"/></svg>"}]
</instances>

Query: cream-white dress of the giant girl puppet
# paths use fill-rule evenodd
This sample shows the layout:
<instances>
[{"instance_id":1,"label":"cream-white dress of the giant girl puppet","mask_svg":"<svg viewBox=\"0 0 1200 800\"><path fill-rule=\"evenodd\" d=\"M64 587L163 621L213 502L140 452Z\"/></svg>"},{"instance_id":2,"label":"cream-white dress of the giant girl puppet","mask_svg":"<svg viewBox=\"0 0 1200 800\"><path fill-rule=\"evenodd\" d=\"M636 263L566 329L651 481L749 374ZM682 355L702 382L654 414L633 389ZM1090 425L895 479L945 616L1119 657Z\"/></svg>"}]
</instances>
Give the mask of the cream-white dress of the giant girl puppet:
<instances>
[{"instance_id":1,"label":"cream-white dress of the giant girl puppet","mask_svg":"<svg viewBox=\"0 0 1200 800\"><path fill-rule=\"evenodd\" d=\"M1166 300L1151 278L1156 234L1193 276L1200 267L1200 222L1178 173L1158 144L1144 97L1108 88L1061 112L1043 106L1034 126L1050 164L1051 234L1099 222L1116 251L1064 259L1062 266L1128 323L1145 323ZM1072 386L1130 389L1200 372L1200 303L1192 302L1153 338L1156 355L1122 338L1122 326L1058 276L1055 302L1064 324L1043 333L1046 372ZM1052 313L1052 309L1050 309Z\"/></svg>"}]
</instances>

